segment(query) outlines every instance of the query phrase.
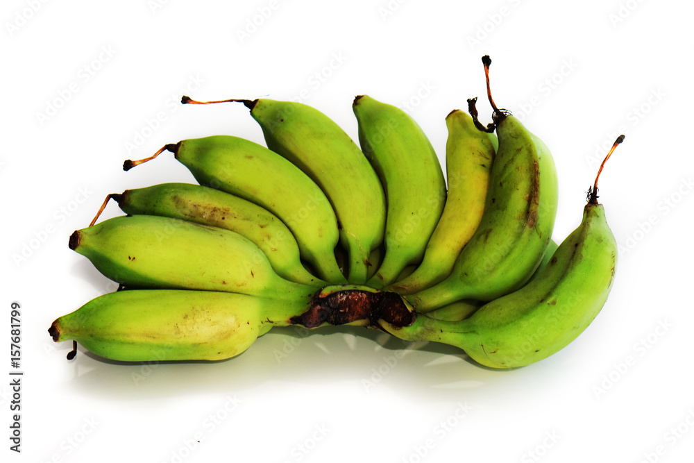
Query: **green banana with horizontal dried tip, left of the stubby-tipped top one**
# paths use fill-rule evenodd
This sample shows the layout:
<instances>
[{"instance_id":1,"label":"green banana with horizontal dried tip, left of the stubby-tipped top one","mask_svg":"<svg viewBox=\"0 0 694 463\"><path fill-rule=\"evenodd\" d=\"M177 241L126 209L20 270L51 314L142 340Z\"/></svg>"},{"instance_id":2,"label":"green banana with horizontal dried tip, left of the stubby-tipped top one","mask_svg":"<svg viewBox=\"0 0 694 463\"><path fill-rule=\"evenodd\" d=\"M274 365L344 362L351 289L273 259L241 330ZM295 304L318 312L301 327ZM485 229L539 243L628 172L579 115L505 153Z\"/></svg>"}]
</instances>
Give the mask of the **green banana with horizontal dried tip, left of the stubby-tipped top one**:
<instances>
[{"instance_id":1,"label":"green banana with horizontal dried tip, left of the stubby-tipped top one","mask_svg":"<svg viewBox=\"0 0 694 463\"><path fill-rule=\"evenodd\" d=\"M242 102L262 128L268 148L303 170L328 196L348 252L348 282L366 283L369 253L383 241L386 205L378 176L359 146L311 106L271 99Z\"/></svg>"}]
</instances>

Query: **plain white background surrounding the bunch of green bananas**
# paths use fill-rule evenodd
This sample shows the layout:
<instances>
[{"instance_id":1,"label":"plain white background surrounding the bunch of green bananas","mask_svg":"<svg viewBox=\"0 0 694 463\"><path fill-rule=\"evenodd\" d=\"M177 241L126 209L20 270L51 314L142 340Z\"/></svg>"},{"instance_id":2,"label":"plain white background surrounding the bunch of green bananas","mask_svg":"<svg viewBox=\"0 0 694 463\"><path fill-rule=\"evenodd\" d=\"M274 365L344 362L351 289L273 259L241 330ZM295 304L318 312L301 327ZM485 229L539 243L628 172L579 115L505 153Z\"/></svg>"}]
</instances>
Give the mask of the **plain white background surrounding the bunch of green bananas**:
<instances>
[{"instance_id":1,"label":"plain white background surrounding the bunch of green bananas","mask_svg":"<svg viewBox=\"0 0 694 463\"><path fill-rule=\"evenodd\" d=\"M685 1L3 1L0 19L3 461L684 462L691 374L691 54ZM253 24L255 22L255 24ZM491 371L455 348L348 328L273 330L214 364L111 364L46 329L115 284L67 238L108 193L192 182L185 138L262 142L241 105L296 99L356 137L351 102L407 109L443 159L444 117L480 96L552 150L554 237L600 201L620 245L595 322L537 364ZM52 109L51 109L52 108ZM103 217L119 214L112 204ZM22 453L9 451L10 304L22 305ZM405 354L405 355L403 355ZM199 441L199 442L198 442ZM455 460L454 460L455 459Z\"/></svg>"}]
</instances>

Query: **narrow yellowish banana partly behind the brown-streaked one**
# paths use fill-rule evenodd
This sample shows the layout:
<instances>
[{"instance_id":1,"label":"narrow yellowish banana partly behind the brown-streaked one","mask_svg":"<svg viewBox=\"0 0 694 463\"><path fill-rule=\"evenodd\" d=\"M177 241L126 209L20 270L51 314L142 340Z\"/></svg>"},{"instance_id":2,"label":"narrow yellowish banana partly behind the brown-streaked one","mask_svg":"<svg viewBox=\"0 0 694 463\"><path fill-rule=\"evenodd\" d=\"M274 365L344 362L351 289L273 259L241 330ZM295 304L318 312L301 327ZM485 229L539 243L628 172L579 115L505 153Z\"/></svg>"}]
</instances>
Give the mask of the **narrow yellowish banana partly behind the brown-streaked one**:
<instances>
[{"instance_id":1,"label":"narrow yellowish banana partly behind the brown-streaked one","mask_svg":"<svg viewBox=\"0 0 694 463\"><path fill-rule=\"evenodd\" d=\"M450 275L455 260L482 220L497 137L478 130L473 118L462 110L451 111L446 126L446 205L422 263L408 278L388 288L400 294L419 292Z\"/></svg>"}]
</instances>

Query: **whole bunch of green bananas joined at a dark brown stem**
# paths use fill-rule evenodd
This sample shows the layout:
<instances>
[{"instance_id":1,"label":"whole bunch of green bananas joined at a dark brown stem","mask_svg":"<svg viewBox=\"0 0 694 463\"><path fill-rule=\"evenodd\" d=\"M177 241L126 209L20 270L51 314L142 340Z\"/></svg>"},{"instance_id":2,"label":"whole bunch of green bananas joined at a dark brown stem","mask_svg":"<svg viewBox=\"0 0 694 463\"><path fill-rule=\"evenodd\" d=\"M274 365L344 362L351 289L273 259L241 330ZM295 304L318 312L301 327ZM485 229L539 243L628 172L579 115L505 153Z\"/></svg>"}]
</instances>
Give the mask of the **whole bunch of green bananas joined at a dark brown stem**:
<instances>
[{"instance_id":1,"label":"whole bunch of green bananas joined at a dark brown stem","mask_svg":"<svg viewBox=\"0 0 694 463\"><path fill-rule=\"evenodd\" d=\"M616 244L597 201L604 162L582 223L557 246L552 155L496 106L482 62L493 122L477 119L476 99L470 115L448 114L448 185L416 121L366 95L352 102L359 146L303 103L232 99L267 147L212 135L126 161L171 151L198 185L106 196L69 247L119 291L53 321L51 337L73 341L68 358L79 343L135 362L226 359L289 325L444 342L494 368L559 351L613 282ZM110 199L127 215L97 222Z\"/></svg>"}]
</instances>

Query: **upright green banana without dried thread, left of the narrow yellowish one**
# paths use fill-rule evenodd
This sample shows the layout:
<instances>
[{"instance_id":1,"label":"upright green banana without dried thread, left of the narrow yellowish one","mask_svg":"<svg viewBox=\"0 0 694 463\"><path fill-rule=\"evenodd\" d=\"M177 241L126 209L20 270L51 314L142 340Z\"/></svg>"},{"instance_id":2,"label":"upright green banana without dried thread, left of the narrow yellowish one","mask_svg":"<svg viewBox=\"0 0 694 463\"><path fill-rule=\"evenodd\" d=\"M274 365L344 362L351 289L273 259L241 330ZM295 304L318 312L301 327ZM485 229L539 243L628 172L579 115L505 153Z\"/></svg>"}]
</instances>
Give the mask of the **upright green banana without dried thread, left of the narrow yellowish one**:
<instances>
[{"instance_id":1,"label":"upright green banana without dried thread, left of the narrow yellowish one","mask_svg":"<svg viewBox=\"0 0 694 463\"><path fill-rule=\"evenodd\" d=\"M359 144L384 188L385 254L371 287L393 283L405 267L421 262L446 203L439 158L407 112L371 96L354 99Z\"/></svg>"}]
</instances>

